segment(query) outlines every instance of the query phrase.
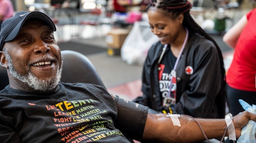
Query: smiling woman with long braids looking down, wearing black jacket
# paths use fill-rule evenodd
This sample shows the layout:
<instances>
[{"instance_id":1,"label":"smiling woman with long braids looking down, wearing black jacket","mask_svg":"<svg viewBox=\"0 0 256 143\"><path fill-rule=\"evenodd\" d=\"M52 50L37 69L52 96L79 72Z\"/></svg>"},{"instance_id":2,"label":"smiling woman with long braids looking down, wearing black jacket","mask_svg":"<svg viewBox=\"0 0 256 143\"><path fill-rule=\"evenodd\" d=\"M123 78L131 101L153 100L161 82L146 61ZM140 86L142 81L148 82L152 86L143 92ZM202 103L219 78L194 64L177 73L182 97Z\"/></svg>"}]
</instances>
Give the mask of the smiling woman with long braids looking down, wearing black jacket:
<instances>
[{"instance_id":1,"label":"smiling woman with long braids looking down, wearing black jacket","mask_svg":"<svg viewBox=\"0 0 256 143\"><path fill-rule=\"evenodd\" d=\"M151 31L159 37L148 51L143 95L134 99L159 112L224 118L225 70L217 43L195 23L187 0L151 0Z\"/></svg>"}]
</instances>

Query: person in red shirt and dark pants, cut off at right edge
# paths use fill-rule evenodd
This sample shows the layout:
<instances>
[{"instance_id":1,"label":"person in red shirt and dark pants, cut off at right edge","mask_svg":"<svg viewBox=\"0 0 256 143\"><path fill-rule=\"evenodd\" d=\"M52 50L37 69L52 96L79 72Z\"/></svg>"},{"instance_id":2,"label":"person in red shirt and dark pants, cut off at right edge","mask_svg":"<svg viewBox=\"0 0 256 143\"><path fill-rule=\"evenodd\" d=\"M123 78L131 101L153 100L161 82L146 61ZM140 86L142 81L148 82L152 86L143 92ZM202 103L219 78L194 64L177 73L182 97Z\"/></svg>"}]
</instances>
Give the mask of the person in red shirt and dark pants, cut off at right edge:
<instances>
[{"instance_id":1,"label":"person in red shirt and dark pants, cut off at right edge","mask_svg":"<svg viewBox=\"0 0 256 143\"><path fill-rule=\"evenodd\" d=\"M223 37L234 48L234 58L227 71L227 95L230 113L236 115L244 109L239 99L256 103L256 8L245 14Z\"/></svg>"}]
</instances>

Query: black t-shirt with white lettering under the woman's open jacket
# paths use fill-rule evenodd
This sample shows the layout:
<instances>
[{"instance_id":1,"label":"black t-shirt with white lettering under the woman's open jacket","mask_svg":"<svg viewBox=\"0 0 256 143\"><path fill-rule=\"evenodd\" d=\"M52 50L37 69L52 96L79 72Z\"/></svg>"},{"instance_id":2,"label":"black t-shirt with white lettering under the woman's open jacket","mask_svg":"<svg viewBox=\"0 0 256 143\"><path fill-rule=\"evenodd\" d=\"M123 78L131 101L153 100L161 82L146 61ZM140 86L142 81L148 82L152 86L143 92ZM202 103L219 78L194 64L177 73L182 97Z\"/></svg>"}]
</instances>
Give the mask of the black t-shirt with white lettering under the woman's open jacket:
<instances>
[{"instance_id":1,"label":"black t-shirt with white lettering under the woman's open jacket","mask_svg":"<svg viewBox=\"0 0 256 143\"><path fill-rule=\"evenodd\" d=\"M166 50L167 50L166 53L163 55L160 61L160 64L159 64L160 70L158 71L159 89L160 89L160 95L162 100L168 95L170 79L171 79L171 71L173 70L176 59L177 59L171 52L170 48L167 48Z\"/></svg>"}]
</instances>

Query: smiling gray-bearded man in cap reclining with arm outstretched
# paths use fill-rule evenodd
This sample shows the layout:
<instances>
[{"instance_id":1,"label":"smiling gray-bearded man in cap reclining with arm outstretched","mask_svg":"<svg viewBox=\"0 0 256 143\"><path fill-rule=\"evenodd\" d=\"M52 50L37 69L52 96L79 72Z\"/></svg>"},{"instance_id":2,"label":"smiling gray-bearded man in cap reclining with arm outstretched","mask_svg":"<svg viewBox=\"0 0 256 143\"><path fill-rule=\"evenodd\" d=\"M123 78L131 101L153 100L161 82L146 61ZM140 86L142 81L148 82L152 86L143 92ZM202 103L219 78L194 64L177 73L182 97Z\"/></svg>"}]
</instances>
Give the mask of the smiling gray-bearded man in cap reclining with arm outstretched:
<instances>
[{"instance_id":1,"label":"smiling gray-bearded man in cap reclining with arm outstretched","mask_svg":"<svg viewBox=\"0 0 256 143\"><path fill-rule=\"evenodd\" d=\"M181 124L177 126L166 114L149 114L148 107L113 97L103 87L60 82L62 58L55 30L51 19L38 11L17 12L2 24L0 62L7 69L10 85L0 91L1 142L205 139L189 117L181 115L175 120ZM197 120L208 138L224 135L224 119ZM249 120L256 120L256 115L243 112L234 117L235 137Z\"/></svg>"}]
</instances>

